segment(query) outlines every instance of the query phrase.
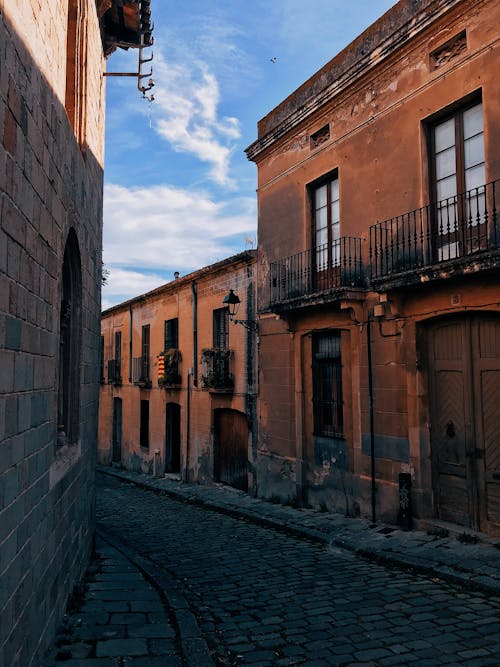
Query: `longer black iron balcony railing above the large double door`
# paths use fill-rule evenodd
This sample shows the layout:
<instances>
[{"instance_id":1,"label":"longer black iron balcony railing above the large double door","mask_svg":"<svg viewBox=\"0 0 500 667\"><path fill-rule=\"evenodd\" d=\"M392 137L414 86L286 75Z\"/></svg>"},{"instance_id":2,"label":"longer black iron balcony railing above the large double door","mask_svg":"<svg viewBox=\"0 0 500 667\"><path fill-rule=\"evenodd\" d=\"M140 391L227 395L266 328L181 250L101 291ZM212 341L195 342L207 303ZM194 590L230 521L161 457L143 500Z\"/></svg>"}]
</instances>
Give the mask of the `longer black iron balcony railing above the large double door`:
<instances>
[{"instance_id":1,"label":"longer black iron balcony railing above the large double door","mask_svg":"<svg viewBox=\"0 0 500 667\"><path fill-rule=\"evenodd\" d=\"M372 279L500 248L493 181L370 227Z\"/></svg>"}]
</instances>

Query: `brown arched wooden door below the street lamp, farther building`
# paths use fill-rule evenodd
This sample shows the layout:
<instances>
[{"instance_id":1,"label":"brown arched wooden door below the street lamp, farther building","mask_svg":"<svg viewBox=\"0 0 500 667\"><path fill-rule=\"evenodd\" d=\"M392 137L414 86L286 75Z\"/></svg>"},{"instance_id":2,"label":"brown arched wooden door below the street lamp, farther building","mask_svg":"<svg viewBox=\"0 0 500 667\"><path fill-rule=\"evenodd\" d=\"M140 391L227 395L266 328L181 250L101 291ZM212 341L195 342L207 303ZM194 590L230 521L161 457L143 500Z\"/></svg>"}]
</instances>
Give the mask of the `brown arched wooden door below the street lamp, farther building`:
<instances>
[{"instance_id":1,"label":"brown arched wooden door below the street lamp, farther building","mask_svg":"<svg viewBox=\"0 0 500 667\"><path fill-rule=\"evenodd\" d=\"M214 476L237 489L248 489L248 422L237 410L218 409L214 415Z\"/></svg>"}]
</instances>

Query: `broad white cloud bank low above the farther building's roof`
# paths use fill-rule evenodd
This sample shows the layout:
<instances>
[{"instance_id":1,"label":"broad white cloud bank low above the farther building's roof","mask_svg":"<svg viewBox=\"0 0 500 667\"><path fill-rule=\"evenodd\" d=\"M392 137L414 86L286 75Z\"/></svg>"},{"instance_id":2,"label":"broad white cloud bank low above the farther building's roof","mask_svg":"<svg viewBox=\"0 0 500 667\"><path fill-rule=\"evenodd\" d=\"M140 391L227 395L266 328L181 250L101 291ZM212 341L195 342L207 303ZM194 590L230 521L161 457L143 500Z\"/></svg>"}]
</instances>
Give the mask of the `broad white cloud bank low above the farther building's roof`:
<instances>
[{"instance_id":1,"label":"broad white cloud bank low above the farther building's roof","mask_svg":"<svg viewBox=\"0 0 500 667\"><path fill-rule=\"evenodd\" d=\"M215 201L171 185L104 190L104 263L192 271L239 252L257 226L253 197Z\"/></svg>"}]
</instances>

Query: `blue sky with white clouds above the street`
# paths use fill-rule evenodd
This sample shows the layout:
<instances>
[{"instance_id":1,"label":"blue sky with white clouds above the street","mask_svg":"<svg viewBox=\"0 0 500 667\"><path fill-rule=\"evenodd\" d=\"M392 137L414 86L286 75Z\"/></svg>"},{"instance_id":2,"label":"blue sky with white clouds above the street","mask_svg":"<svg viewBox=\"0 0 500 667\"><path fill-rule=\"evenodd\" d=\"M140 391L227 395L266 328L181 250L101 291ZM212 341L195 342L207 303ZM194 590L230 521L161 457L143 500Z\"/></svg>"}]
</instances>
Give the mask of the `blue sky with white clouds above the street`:
<instances>
[{"instance_id":1,"label":"blue sky with white clouds above the street","mask_svg":"<svg viewBox=\"0 0 500 667\"><path fill-rule=\"evenodd\" d=\"M151 4L154 102L107 78L103 309L256 247L257 122L395 2Z\"/></svg>"}]
</instances>

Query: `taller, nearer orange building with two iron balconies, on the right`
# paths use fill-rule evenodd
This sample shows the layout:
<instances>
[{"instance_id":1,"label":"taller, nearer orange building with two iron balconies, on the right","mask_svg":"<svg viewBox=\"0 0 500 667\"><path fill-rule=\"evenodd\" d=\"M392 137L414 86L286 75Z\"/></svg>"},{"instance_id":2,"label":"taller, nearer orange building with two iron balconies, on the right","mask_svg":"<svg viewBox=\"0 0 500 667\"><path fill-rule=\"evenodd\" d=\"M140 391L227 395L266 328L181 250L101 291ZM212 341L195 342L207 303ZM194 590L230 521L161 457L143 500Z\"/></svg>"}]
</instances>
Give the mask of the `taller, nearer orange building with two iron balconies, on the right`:
<instances>
[{"instance_id":1,"label":"taller, nearer orange building with two iron balconies, on the right","mask_svg":"<svg viewBox=\"0 0 500 667\"><path fill-rule=\"evenodd\" d=\"M499 25L401 0L259 122L261 495L499 534Z\"/></svg>"}]
</instances>

